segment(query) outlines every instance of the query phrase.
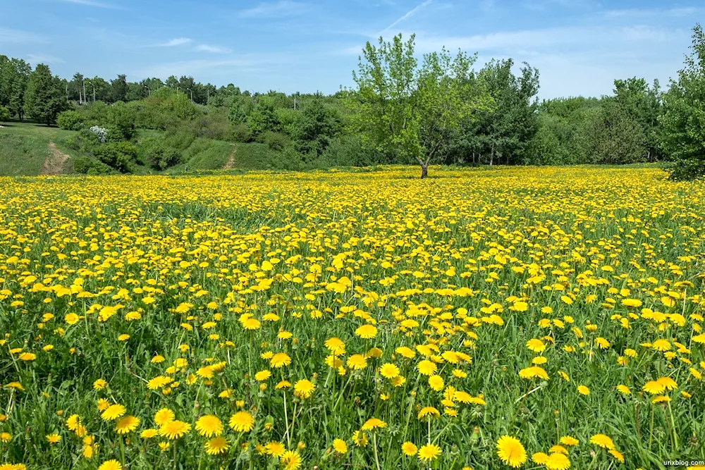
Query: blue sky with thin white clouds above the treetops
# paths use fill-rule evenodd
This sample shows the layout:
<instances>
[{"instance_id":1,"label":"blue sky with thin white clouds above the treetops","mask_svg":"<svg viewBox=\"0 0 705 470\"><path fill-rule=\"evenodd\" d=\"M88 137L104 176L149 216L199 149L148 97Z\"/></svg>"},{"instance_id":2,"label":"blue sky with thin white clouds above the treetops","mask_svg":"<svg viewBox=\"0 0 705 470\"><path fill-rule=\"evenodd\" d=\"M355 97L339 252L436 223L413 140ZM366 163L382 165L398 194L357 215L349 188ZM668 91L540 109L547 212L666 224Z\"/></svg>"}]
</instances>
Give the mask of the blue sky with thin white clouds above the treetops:
<instances>
[{"instance_id":1,"label":"blue sky with thin white clouds above the treetops","mask_svg":"<svg viewBox=\"0 0 705 470\"><path fill-rule=\"evenodd\" d=\"M192 75L266 92L336 92L368 40L417 34L539 68L541 98L675 76L701 0L0 0L0 54L54 73Z\"/></svg>"}]
</instances>

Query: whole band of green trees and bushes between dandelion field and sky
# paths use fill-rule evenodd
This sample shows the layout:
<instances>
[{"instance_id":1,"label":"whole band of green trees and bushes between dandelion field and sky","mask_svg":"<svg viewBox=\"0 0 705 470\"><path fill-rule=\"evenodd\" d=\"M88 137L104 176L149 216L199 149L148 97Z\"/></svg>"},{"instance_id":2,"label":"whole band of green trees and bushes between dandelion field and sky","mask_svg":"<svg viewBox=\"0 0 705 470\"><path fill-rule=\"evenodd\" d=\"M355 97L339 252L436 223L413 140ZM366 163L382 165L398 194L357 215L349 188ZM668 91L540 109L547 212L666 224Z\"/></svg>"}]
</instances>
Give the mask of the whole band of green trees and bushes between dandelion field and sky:
<instances>
[{"instance_id":1,"label":"whole band of green trees and bushes between dandelion field and sky","mask_svg":"<svg viewBox=\"0 0 705 470\"><path fill-rule=\"evenodd\" d=\"M110 139L137 146L142 142L135 132L123 132L125 123L162 130L142 145L142 158L127 159L152 161L159 169L178 163L185 144L207 137L259 142L279 152L281 166L291 169L418 163L425 177L430 163L670 161L675 179L705 174L700 25L693 29L691 54L667 89L635 77L615 80L609 96L543 101L537 99L539 70L527 63L493 60L477 68L477 54L445 49L419 60L414 39L399 35L368 43L353 73L355 87L328 96L251 93L190 77L128 82L125 75L107 81L77 73L64 80L45 65L32 70L21 59L0 56L0 120L3 113L47 125L59 120L62 127L82 130L85 142L92 139L88 129L112 128ZM85 142L77 145L94 154ZM128 171L130 163L117 168Z\"/></svg>"}]
</instances>

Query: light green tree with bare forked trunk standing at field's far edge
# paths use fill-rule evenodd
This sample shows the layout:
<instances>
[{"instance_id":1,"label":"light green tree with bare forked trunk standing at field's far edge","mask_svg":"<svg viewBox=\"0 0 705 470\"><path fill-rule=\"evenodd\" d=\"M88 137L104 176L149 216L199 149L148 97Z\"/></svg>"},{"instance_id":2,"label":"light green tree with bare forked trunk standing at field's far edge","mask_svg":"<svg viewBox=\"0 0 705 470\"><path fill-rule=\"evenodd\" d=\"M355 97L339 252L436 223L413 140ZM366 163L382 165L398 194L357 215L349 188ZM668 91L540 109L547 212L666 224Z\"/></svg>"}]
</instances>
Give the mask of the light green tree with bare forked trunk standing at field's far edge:
<instances>
[{"instance_id":1,"label":"light green tree with bare forked trunk standing at field's far edge","mask_svg":"<svg viewBox=\"0 0 705 470\"><path fill-rule=\"evenodd\" d=\"M416 161L427 178L429 163L460 123L488 109L492 99L471 70L477 56L458 51L453 58L443 49L424 54L419 68L414 40L398 35L391 42L380 37L376 47L367 42L353 72L357 89L345 101L366 146L394 163Z\"/></svg>"}]
</instances>

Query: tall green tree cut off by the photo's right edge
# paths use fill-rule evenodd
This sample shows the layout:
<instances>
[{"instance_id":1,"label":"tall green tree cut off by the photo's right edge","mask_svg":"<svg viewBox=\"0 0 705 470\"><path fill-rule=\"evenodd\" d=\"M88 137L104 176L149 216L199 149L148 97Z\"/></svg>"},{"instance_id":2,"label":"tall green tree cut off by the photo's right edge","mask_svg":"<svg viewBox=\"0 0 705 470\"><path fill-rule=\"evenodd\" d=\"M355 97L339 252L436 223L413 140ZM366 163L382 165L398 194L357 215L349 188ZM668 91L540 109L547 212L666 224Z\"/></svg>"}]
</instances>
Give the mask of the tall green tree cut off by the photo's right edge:
<instances>
[{"instance_id":1,"label":"tall green tree cut off by the photo's right edge","mask_svg":"<svg viewBox=\"0 0 705 470\"><path fill-rule=\"evenodd\" d=\"M671 178L686 180L705 175L705 34L693 28L692 54L686 56L678 80L671 80L663 96L661 144L675 161Z\"/></svg>"}]
</instances>

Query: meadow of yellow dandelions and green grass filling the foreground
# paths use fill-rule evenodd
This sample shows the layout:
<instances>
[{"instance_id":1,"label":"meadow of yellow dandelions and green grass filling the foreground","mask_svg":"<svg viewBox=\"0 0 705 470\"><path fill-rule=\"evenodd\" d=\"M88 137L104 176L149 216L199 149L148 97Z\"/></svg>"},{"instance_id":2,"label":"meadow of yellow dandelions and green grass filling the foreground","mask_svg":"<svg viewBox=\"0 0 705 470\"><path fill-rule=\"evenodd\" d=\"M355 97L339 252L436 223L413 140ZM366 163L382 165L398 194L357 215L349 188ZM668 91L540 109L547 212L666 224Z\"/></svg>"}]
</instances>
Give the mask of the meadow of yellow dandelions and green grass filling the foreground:
<instances>
[{"instance_id":1,"label":"meadow of yellow dandelions and green grass filling the foreground","mask_svg":"<svg viewBox=\"0 0 705 470\"><path fill-rule=\"evenodd\" d=\"M0 469L705 461L705 185L432 176L0 178Z\"/></svg>"}]
</instances>

